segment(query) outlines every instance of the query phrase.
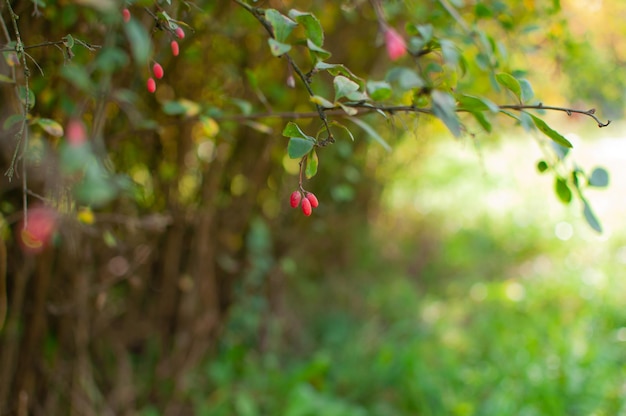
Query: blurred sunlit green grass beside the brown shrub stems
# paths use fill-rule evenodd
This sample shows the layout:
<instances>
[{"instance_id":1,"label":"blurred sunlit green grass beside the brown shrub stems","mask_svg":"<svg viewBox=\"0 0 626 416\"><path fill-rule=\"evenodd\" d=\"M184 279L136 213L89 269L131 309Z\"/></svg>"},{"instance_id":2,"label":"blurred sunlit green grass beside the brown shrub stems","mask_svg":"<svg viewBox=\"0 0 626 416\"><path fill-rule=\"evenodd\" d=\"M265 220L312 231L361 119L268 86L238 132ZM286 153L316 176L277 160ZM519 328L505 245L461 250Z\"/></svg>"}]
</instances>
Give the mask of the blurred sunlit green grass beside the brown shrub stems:
<instances>
[{"instance_id":1,"label":"blurred sunlit green grass beside the brown shrub stems","mask_svg":"<svg viewBox=\"0 0 626 416\"><path fill-rule=\"evenodd\" d=\"M263 307L234 311L249 325L193 378L196 414L626 414L626 165L619 140L577 141L581 166L612 173L588 195L604 235L557 201L527 138L482 157L404 142L381 168L384 209L355 232L359 262L291 276L269 348Z\"/></svg>"}]
</instances>

